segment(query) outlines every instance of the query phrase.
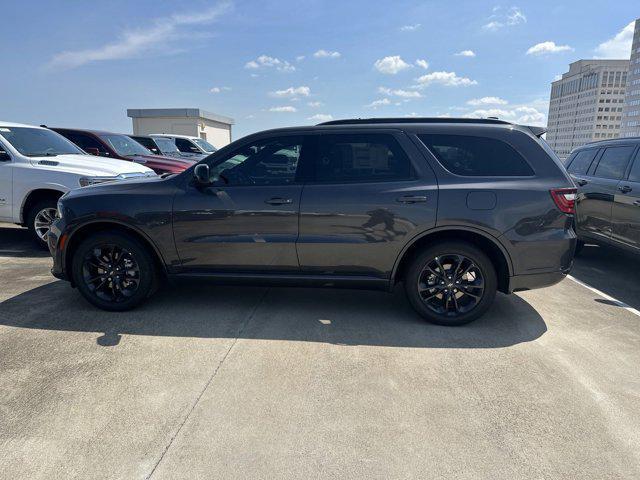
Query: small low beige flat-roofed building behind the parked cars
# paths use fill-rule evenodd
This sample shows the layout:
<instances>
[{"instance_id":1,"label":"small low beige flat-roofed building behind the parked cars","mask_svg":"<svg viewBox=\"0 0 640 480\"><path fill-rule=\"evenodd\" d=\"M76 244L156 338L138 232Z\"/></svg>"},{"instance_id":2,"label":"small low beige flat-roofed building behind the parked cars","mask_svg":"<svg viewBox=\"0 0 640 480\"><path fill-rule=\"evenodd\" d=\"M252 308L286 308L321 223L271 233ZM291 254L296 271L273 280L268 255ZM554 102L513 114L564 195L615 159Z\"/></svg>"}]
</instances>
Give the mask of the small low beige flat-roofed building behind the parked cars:
<instances>
[{"instance_id":1,"label":"small low beige flat-roofed building behind the parked cars","mask_svg":"<svg viewBox=\"0 0 640 480\"><path fill-rule=\"evenodd\" d=\"M127 116L133 120L134 135L189 135L207 140L216 148L231 142L231 125L235 123L232 118L199 108L130 108Z\"/></svg>"}]
</instances>

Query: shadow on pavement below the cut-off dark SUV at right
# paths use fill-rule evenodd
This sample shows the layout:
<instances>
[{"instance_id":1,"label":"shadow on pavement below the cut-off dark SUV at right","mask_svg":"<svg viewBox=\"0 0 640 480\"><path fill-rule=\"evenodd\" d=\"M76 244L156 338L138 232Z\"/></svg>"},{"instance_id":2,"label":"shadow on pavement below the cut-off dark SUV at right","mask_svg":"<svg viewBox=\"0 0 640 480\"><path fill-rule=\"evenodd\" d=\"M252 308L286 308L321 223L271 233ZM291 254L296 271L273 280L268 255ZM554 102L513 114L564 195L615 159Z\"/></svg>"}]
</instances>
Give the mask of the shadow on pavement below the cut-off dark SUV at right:
<instances>
[{"instance_id":1,"label":"shadow on pavement below the cut-off dark SUV at right","mask_svg":"<svg viewBox=\"0 0 640 480\"><path fill-rule=\"evenodd\" d=\"M639 255L614 247L585 245L575 259L571 275L633 308L640 309Z\"/></svg>"}]
</instances>

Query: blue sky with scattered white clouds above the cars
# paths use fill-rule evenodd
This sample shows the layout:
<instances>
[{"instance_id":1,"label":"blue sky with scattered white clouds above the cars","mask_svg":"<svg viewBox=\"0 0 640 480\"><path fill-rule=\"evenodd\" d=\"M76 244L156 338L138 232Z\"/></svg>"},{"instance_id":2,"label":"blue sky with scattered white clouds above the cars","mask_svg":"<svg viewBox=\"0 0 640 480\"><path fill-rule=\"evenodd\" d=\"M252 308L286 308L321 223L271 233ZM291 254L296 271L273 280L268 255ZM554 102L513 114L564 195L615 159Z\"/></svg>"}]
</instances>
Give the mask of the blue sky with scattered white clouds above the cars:
<instances>
[{"instance_id":1,"label":"blue sky with scattered white clouds above the cars","mask_svg":"<svg viewBox=\"0 0 640 480\"><path fill-rule=\"evenodd\" d=\"M637 0L5 2L0 119L131 131L127 108L266 128L368 116L546 124L580 58L628 57Z\"/></svg>"}]
</instances>

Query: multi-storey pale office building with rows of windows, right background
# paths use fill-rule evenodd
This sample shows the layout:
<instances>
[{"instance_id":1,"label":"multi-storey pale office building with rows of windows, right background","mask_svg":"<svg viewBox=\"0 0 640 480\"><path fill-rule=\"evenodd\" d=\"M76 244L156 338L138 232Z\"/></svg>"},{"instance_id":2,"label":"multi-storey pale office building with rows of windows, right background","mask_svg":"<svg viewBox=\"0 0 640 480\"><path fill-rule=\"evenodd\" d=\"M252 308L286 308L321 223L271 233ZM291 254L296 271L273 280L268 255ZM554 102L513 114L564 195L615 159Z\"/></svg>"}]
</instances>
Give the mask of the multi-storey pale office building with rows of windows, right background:
<instances>
[{"instance_id":1,"label":"multi-storey pale office building with rows of windows, right background","mask_svg":"<svg viewBox=\"0 0 640 480\"><path fill-rule=\"evenodd\" d=\"M617 138L628 60L578 60L551 84L546 140L560 158L594 140Z\"/></svg>"}]
</instances>

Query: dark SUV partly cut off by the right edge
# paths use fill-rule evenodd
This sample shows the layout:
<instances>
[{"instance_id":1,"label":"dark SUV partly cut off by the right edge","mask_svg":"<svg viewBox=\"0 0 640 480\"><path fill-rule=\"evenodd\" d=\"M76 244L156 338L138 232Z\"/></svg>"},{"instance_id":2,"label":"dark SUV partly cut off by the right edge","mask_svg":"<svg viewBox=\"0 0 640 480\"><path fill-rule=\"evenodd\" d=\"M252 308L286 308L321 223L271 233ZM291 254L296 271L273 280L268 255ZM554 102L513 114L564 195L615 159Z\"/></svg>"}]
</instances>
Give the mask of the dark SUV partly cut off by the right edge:
<instances>
[{"instance_id":1,"label":"dark SUV partly cut off by the right edge","mask_svg":"<svg viewBox=\"0 0 640 480\"><path fill-rule=\"evenodd\" d=\"M588 143L566 164L578 185L578 248L589 242L640 253L640 138Z\"/></svg>"}]
</instances>

